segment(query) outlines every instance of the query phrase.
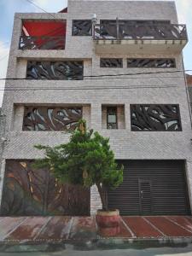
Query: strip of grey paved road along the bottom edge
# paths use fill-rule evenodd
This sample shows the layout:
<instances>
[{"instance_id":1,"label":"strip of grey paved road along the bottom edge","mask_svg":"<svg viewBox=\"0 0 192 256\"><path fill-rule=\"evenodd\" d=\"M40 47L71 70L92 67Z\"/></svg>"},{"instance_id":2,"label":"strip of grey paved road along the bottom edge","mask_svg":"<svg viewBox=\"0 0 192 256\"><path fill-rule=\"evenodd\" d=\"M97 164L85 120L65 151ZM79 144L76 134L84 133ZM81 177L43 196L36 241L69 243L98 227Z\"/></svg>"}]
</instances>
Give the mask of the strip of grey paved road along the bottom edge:
<instances>
[{"instance_id":1,"label":"strip of grey paved road along the bottom edge","mask_svg":"<svg viewBox=\"0 0 192 256\"><path fill-rule=\"evenodd\" d=\"M96 251L74 251L70 246L55 253L0 253L0 256L192 256L192 245L188 247L160 247L143 250L113 249Z\"/></svg>"}]
</instances>

